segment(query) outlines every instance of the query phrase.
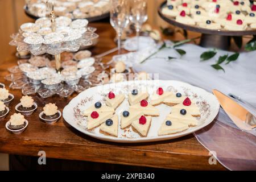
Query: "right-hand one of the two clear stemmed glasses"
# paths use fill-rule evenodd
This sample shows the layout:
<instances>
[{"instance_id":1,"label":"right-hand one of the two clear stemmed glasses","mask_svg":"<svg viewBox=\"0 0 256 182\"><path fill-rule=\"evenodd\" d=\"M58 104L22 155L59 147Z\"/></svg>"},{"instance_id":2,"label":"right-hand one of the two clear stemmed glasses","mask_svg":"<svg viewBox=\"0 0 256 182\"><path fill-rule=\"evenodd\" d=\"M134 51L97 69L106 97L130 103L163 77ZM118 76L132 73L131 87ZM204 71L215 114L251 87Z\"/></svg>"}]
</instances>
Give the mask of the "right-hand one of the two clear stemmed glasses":
<instances>
[{"instance_id":1,"label":"right-hand one of the two clear stemmed glasses","mask_svg":"<svg viewBox=\"0 0 256 182\"><path fill-rule=\"evenodd\" d=\"M139 32L142 24L147 20L147 0L131 0L130 20L136 28L137 46L139 49Z\"/></svg>"}]
</instances>

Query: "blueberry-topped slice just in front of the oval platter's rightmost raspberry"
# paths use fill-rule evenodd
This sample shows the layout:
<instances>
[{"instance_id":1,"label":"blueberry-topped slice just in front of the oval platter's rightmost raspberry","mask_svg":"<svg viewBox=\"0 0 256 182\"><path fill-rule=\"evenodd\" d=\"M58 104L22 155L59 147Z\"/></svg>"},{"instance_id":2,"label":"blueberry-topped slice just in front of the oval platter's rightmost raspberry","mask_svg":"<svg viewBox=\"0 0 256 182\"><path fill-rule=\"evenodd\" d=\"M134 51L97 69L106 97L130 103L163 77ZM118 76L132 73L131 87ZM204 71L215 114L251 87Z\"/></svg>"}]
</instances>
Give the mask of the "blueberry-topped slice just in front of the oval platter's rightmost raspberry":
<instances>
[{"instance_id":1,"label":"blueberry-topped slice just in front of the oval platter's rightmost raspberry","mask_svg":"<svg viewBox=\"0 0 256 182\"><path fill-rule=\"evenodd\" d=\"M177 122L185 123L188 126L198 125L198 121L195 117L192 117L192 115L190 115L190 114L185 114L185 115L183 115L183 114L171 113L171 114L168 114L166 118L171 119L171 121L177 121Z\"/></svg>"}]
</instances>

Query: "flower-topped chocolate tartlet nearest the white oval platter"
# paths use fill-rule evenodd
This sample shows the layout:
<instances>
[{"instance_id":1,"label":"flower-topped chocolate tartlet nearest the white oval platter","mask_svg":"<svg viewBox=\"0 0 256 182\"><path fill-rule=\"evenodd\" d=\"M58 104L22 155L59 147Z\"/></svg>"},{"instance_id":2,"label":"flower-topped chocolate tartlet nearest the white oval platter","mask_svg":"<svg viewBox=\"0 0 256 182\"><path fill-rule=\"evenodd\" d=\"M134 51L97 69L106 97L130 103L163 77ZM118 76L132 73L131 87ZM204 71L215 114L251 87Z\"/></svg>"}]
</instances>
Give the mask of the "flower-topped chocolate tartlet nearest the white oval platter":
<instances>
[{"instance_id":1,"label":"flower-topped chocolate tartlet nearest the white oval platter","mask_svg":"<svg viewBox=\"0 0 256 182\"><path fill-rule=\"evenodd\" d=\"M59 111L58 107L52 103L46 104L43 111L39 114L39 118L49 125L56 123L60 117L61 111Z\"/></svg>"}]
</instances>

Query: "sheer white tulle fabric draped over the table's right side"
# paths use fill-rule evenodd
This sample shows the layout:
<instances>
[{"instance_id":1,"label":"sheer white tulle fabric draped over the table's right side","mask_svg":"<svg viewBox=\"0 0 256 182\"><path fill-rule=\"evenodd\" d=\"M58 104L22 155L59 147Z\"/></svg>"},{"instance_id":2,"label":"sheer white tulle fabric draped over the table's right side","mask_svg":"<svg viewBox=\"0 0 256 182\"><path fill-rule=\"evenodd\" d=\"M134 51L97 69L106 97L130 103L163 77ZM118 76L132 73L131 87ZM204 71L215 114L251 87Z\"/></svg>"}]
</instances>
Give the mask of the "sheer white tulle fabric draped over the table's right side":
<instances>
[{"instance_id":1,"label":"sheer white tulle fabric draped over the table's right side","mask_svg":"<svg viewBox=\"0 0 256 182\"><path fill-rule=\"evenodd\" d=\"M171 42L167 42L172 44ZM154 52L156 46L146 47L137 53L122 55L122 59L133 65L136 72L159 73L163 80L179 80L199 86L212 92L212 89L222 93L232 93L251 106L243 105L256 115L256 51L243 52L237 61L227 65L221 64L225 73L210 67L215 64L218 56L229 54L228 51L217 51L216 56L200 62L200 55L207 48L194 44L184 44L179 47L187 53L180 57L174 49L163 49L146 62L139 64L144 57ZM168 56L178 59L168 60ZM256 170L256 131L241 131L220 110L215 121L195 133L195 137L209 151L214 151L218 161L232 170Z\"/></svg>"}]
</instances>

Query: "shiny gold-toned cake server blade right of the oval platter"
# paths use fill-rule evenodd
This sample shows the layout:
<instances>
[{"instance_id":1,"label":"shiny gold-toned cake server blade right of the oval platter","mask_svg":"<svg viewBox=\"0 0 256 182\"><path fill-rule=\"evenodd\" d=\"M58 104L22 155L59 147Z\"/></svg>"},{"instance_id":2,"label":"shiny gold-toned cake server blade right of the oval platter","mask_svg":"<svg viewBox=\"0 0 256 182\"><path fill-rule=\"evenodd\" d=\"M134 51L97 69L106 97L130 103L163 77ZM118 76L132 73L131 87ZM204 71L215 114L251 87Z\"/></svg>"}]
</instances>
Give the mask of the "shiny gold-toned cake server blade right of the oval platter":
<instances>
[{"instance_id":1,"label":"shiny gold-toned cake server blade right of the oval platter","mask_svg":"<svg viewBox=\"0 0 256 182\"><path fill-rule=\"evenodd\" d=\"M237 127L241 130L252 130L256 127L256 119L253 114L220 91L213 90L212 92L214 96L217 97L221 107Z\"/></svg>"}]
</instances>

